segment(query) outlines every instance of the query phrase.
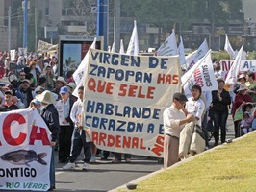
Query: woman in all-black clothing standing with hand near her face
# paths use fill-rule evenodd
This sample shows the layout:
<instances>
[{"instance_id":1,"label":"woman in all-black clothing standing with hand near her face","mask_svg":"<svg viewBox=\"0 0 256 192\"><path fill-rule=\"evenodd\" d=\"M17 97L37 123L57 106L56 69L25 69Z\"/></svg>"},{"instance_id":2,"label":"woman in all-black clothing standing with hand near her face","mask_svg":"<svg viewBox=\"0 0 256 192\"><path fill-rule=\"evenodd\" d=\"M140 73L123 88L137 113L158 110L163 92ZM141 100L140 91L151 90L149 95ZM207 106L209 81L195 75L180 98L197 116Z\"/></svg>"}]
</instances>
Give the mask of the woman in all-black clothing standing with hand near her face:
<instances>
[{"instance_id":1,"label":"woman in all-black clothing standing with hand near her face","mask_svg":"<svg viewBox=\"0 0 256 192\"><path fill-rule=\"evenodd\" d=\"M214 132L215 146L218 145L219 127L221 129L221 143L226 140L226 122L228 117L227 106L231 104L229 92L224 89L224 81L218 80L218 90L212 91L213 107L211 108L214 116Z\"/></svg>"}]
</instances>

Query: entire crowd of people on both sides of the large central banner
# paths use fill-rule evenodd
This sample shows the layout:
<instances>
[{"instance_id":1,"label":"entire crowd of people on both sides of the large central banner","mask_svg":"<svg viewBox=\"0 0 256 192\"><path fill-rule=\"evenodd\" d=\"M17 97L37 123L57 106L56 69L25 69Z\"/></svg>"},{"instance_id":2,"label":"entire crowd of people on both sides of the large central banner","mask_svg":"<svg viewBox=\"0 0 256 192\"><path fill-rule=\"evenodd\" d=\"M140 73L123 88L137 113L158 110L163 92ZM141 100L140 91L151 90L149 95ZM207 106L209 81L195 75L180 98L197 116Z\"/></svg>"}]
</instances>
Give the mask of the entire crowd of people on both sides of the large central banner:
<instances>
[{"instance_id":1,"label":"entire crowd of people on both sides of the large central banner","mask_svg":"<svg viewBox=\"0 0 256 192\"><path fill-rule=\"evenodd\" d=\"M30 54L27 58L19 56L15 60L17 79L10 84L0 84L0 111L19 108L34 108L52 132L52 147L58 144L59 163L66 163L64 170L75 169L81 150L84 152L83 169L89 169L89 163L95 162L97 149L90 141L89 131L83 130L81 110L83 105L83 86L78 87L78 97L72 95L76 84L72 71L68 78L58 76L57 54ZM10 72L10 59L7 53L0 55L0 64L4 64L5 76ZM227 118L232 108L235 137L256 129L254 122L254 104L256 102L256 81L252 72L240 73L234 88L225 84L221 68L216 61L215 75L218 89L202 91L197 84L192 86L191 94L174 93L172 105L164 111L165 143L164 167L180 159L193 156L209 147L209 136L214 137L214 146L226 141ZM202 132L200 133L200 129ZM204 144L194 137L200 134ZM209 135L209 132L212 134ZM59 139L58 139L59 138ZM203 149L202 149L203 146ZM199 149L200 148L200 149ZM101 159L107 159L109 152L103 152ZM131 161L131 155L124 158ZM121 154L115 154L114 163L121 162ZM54 171L54 159L51 162ZM54 172L51 172L54 187Z\"/></svg>"}]
</instances>

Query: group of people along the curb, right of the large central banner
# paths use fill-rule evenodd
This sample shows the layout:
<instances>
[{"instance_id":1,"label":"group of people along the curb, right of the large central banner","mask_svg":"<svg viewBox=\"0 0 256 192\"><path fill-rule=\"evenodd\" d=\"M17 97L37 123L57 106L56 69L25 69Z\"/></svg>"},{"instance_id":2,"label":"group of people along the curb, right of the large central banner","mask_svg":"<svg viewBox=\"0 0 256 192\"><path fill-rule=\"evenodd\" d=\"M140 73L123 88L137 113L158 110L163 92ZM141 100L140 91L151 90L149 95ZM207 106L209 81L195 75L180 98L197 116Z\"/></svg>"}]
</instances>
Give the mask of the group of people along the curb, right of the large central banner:
<instances>
[{"instance_id":1,"label":"group of people along the curb, right of the large central banner","mask_svg":"<svg viewBox=\"0 0 256 192\"><path fill-rule=\"evenodd\" d=\"M172 105L164 111L165 168L202 152L202 147L207 150L218 146L219 140L221 144L225 143L230 111L235 138L256 130L255 74L241 71L237 84L225 84L219 62L213 64L217 90L202 91L199 85L194 84L191 94L174 93ZM212 136L214 145L209 146L209 137Z\"/></svg>"}]
</instances>

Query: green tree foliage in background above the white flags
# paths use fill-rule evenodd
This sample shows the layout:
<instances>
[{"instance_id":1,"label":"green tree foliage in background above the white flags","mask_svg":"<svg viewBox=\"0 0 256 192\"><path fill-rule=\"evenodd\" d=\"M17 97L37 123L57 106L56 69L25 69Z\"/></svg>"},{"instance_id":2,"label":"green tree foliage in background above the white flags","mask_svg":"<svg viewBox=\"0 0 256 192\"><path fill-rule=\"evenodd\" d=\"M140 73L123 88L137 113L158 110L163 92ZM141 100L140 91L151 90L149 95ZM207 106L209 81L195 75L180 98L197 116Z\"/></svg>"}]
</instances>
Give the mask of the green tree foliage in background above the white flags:
<instances>
[{"instance_id":1,"label":"green tree foliage in background above the white flags","mask_svg":"<svg viewBox=\"0 0 256 192\"><path fill-rule=\"evenodd\" d=\"M190 28L193 21L207 20L214 42L216 26L230 19L243 20L242 0L129 0L121 1L122 10L139 22L171 32L173 24L179 31Z\"/></svg>"}]
</instances>

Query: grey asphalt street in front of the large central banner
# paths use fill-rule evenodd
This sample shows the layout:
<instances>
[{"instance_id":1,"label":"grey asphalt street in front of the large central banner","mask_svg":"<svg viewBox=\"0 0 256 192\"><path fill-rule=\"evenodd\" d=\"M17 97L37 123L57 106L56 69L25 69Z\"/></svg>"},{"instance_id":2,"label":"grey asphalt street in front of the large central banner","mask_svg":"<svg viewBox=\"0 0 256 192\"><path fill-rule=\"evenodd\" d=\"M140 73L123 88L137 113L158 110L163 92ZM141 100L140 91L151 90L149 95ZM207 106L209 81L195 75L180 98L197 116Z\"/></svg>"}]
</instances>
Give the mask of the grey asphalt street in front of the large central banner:
<instances>
[{"instance_id":1,"label":"grey asphalt street in front of the large central banner","mask_svg":"<svg viewBox=\"0 0 256 192\"><path fill-rule=\"evenodd\" d=\"M81 161L80 161L81 162ZM90 171L82 171L82 162L77 171L63 171L57 164L56 191L108 191L131 180L159 170L157 160L133 156L131 163L113 164L111 160L98 160L90 164Z\"/></svg>"}]
</instances>

